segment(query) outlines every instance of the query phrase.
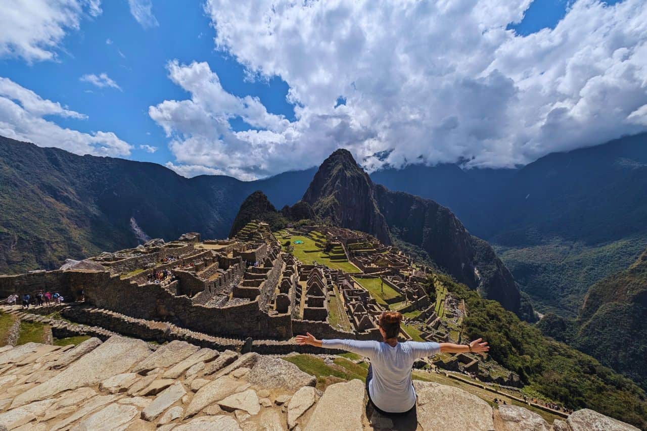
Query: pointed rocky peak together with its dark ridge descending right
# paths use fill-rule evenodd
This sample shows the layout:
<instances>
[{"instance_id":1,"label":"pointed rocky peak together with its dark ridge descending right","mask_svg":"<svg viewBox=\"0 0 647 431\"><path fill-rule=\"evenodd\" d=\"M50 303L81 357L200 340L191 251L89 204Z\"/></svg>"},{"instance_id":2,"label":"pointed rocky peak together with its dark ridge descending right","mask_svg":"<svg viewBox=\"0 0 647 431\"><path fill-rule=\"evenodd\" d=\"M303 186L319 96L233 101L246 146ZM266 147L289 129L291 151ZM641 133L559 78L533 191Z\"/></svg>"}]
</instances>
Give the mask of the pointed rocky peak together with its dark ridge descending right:
<instances>
[{"instance_id":1,"label":"pointed rocky peak together with its dark ridge descending right","mask_svg":"<svg viewBox=\"0 0 647 431\"><path fill-rule=\"evenodd\" d=\"M512 274L487 242L470 235L448 208L373 184L349 151L338 149L323 162L303 201L335 225L362 230L382 242L387 238L387 244L395 235L421 247L459 282L522 318L534 318L529 304L522 307Z\"/></svg>"}]
</instances>

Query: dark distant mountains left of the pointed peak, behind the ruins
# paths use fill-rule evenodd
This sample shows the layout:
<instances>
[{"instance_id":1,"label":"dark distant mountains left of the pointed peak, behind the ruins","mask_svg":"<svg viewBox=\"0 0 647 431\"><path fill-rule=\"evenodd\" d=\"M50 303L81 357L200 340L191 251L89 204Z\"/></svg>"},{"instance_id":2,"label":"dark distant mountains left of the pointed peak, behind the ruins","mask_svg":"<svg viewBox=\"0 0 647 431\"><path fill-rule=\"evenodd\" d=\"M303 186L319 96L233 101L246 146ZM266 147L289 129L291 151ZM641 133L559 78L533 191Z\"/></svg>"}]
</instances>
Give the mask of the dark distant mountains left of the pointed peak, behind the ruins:
<instances>
[{"instance_id":1,"label":"dark distant mountains left of the pointed peak, behind the ruins","mask_svg":"<svg viewBox=\"0 0 647 431\"><path fill-rule=\"evenodd\" d=\"M249 193L262 189L272 201L292 204L314 171L251 182L223 175L187 179L159 164L78 156L0 137L0 274L55 269L66 258L192 230L226 238Z\"/></svg>"}]
</instances>

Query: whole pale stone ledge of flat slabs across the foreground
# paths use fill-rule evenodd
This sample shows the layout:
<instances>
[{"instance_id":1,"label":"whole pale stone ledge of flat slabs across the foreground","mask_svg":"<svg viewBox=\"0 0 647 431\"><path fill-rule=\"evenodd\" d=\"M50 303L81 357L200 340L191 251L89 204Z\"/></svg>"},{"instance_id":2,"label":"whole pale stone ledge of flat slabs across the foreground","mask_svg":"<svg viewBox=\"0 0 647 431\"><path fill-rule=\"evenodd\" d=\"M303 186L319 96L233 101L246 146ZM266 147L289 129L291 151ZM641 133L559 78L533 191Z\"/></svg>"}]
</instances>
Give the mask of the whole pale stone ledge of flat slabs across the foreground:
<instances>
[{"instance_id":1,"label":"whole pale stone ledge of flat slabs across the foreground","mask_svg":"<svg viewBox=\"0 0 647 431\"><path fill-rule=\"evenodd\" d=\"M476 395L415 381L416 413L384 417L359 380L314 388L282 359L135 338L74 347L0 348L3 430L615 430L638 428L592 410L552 425L519 406L497 410Z\"/></svg>"}]
</instances>

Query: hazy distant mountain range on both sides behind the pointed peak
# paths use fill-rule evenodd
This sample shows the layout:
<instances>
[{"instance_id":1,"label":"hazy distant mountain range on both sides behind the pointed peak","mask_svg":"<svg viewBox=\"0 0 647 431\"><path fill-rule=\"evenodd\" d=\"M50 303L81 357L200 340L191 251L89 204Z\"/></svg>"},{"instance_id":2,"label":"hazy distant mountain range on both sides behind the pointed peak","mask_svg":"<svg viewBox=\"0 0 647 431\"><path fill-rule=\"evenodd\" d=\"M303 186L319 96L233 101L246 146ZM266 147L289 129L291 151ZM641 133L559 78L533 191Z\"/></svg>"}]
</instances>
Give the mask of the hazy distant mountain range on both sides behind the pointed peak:
<instances>
[{"instance_id":1,"label":"hazy distant mountain range on both sides behind the pointed peak","mask_svg":"<svg viewBox=\"0 0 647 431\"><path fill-rule=\"evenodd\" d=\"M186 179L156 164L80 157L8 138L0 138L0 168L7 208L0 214L0 272L51 269L69 256L137 245L134 224L149 237L176 238L189 229L223 237L250 193L261 190L282 208L303 197L317 172L251 182ZM410 165L370 179L449 208L470 234L493 245L544 313L576 316L589 286L647 248L647 133L520 169Z\"/></svg>"}]
</instances>

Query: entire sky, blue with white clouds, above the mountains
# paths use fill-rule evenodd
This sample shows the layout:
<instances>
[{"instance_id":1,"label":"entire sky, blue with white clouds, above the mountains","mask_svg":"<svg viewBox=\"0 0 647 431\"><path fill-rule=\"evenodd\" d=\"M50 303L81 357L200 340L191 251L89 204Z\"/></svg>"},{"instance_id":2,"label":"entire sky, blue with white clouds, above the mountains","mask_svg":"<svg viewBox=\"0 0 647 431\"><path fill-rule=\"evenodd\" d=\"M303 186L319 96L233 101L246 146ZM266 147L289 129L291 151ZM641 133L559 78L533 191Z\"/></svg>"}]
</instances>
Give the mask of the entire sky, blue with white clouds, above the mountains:
<instances>
[{"instance_id":1,"label":"entire sky, blue with white clouds, above the mountains","mask_svg":"<svg viewBox=\"0 0 647 431\"><path fill-rule=\"evenodd\" d=\"M254 179L338 147L514 166L647 126L640 0L71 3L0 11L5 135Z\"/></svg>"}]
</instances>

